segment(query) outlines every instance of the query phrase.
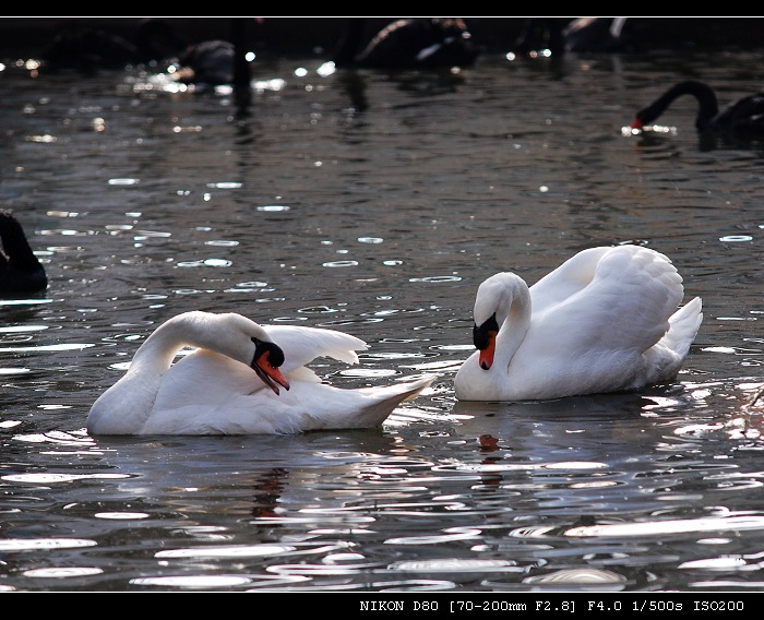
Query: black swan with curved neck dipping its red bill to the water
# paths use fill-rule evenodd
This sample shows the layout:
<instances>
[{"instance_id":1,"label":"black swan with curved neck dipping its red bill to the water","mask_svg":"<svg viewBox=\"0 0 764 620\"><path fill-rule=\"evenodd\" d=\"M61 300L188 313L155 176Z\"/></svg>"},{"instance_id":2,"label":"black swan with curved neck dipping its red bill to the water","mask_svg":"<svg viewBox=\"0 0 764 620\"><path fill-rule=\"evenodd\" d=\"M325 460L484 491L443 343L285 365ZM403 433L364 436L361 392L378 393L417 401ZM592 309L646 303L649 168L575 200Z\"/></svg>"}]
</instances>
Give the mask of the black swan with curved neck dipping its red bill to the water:
<instances>
[{"instance_id":1,"label":"black swan with curved neck dipping its red bill to the water","mask_svg":"<svg viewBox=\"0 0 764 620\"><path fill-rule=\"evenodd\" d=\"M642 129L650 124L682 95L692 95L697 100L695 128L700 132L764 135L764 93L741 97L719 111L714 88L699 80L684 80L671 86L650 105L636 112L631 129Z\"/></svg>"}]
</instances>

